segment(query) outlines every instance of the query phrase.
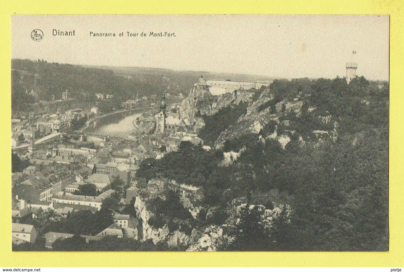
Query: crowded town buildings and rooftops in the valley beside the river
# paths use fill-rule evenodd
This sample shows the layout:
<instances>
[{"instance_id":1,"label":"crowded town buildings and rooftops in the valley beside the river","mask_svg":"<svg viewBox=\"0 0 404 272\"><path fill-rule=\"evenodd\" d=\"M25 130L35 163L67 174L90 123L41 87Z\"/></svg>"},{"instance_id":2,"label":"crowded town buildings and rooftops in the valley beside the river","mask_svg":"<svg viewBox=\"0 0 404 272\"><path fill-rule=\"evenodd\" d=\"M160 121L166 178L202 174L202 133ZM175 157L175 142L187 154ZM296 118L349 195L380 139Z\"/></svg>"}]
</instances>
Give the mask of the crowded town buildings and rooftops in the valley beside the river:
<instances>
[{"instance_id":1,"label":"crowded town buildings and rooftops in the valley beside the river","mask_svg":"<svg viewBox=\"0 0 404 272\"><path fill-rule=\"evenodd\" d=\"M105 96L100 98L105 99ZM136 103L129 101L131 105L128 107ZM165 106L165 101L162 104ZM48 218L50 221L68 220L69 214L82 210L96 213L107 198L118 199L118 211L122 211L124 205L137 196L135 177L140 162L150 157L161 158L167 150L175 150L181 139L193 132L193 125L188 120L166 114L164 107L161 108L164 110L164 131L161 135L153 135L155 112L151 110L143 116L145 122L151 124L150 133L141 131L132 140L105 137L103 144L98 145L92 142L93 139L87 142L85 132L81 133L78 129L73 131L72 127L75 126L72 123L84 116L100 114L99 108L83 111L77 106L71 106L68 110L58 108L54 114L27 115L24 118L17 116L13 121L13 153L29 163L21 172L13 173L13 222L24 223L32 218L39 221L49 214L52 216ZM168 112L173 109L174 106ZM124 181L119 194L107 190L116 177ZM99 196L76 195L80 186L88 183L96 186ZM59 232L40 235L45 237L48 248L58 238L73 236ZM81 236L87 242L110 235L137 239L137 220L130 215L114 213L114 224L94 235ZM17 239L13 241L21 242Z\"/></svg>"}]
</instances>

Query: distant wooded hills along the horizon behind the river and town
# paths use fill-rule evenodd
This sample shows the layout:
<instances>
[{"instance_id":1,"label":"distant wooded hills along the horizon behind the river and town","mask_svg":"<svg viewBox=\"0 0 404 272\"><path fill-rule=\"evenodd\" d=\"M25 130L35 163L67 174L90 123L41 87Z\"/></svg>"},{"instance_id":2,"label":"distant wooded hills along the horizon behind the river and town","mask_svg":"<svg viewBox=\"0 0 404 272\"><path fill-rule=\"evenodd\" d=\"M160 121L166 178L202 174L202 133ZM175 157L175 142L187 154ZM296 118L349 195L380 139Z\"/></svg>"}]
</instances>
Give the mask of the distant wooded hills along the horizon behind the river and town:
<instances>
[{"instance_id":1,"label":"distant wooded hills along the horizon behind the river and town","mask_svg":"<svg viewBox=\"0 0 404 272\"><path fill-rule=\"evenodd\" d=\"M246 74L176 71L143 67L84 66L48 63L44 60L11 60L12 106L23 108L33 103L26 91L34 90L38 100L61 99L67 90L69 96L83 101L96 99L95 93L112 94L115 99L126 100L136 96L188 94L200 76L213 79L268 81L273 78Z\"/></svg>"}]
</instances>

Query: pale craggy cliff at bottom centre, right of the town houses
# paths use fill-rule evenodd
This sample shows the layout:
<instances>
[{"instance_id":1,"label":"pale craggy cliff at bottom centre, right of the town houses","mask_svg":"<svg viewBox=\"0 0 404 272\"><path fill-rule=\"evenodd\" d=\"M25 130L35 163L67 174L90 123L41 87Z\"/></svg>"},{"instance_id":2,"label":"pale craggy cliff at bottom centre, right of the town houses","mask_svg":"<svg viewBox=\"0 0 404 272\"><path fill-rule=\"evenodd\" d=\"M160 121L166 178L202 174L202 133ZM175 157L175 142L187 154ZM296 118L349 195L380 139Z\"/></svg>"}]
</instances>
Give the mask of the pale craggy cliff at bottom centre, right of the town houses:
<instances>
[{"instance_id":1,"label":"pale craggy cliff at bottom centre, right of the town houses","mask_svg":"<svg viewBox=\"0 0 404 272\"><path fill-rule=\"evenodd\" d=\"M177 218L176 214L162 215L156 212L156 199L169 198L169 192L175 192L180 199L181 207L188 209L191 219ZM146 188L140 189L135 201L137 217L141 220L143 240L151 239L154 244L167 243L174 249L187 251L218 251L223 250L234 242L240 218L246 209L254 209L257 205L247 205L247 198L237 198L231 201L230 207L204 206L203 194L200 188L184 186L175 181L151 180ZM273 203L273 209L258 205L261 221L266 228L271 228L280 213L285 211L290 216L290 207ZM224 210L223 210L224 209ZM204 212L205 211L205 212ZM207 211L207 212L206 212ZM215 213L225 215L224 224L209 223ZM156 218L161 217L162 223L156 224ZM173 227L176 225L176 227Z\"/></svg>"}]
</instances>

